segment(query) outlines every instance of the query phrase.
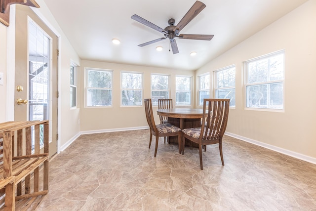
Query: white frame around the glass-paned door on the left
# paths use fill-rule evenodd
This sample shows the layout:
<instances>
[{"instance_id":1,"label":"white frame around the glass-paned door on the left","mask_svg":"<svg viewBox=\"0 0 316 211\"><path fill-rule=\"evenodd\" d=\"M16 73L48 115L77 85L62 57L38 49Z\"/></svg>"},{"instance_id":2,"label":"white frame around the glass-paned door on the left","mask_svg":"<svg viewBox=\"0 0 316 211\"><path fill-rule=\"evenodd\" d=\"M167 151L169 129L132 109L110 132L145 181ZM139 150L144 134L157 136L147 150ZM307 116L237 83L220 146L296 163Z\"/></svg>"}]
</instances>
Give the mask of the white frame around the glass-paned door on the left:
<instances>
[{"instance_id":1,"label":"white frame around the glass-paned door on the left","mask_svg":"<svg viewBox=\"0 0 316 211\"><path fill-rule=\"evenodd\" d=\"M61 90L61 35L60 33L53 27L49 21L44 17L44 15L40 12L39 8L30 7L34 13L39 16L41 21L47 25L47 27L57 36L58 40L58 49L59 54L57 56L58 59L58 80L57 80L57 91ZM10 6L10 25L7 27L7 85L6 85L6 121L14 121L14 104L15 104L15 87L12 84L15 84L15 4ZM61 102L60 98L58 99L57 105L57 133L59 134L57 140L57 154L61 152L60 140L61 140Z\"/></svg>"}]
</instances>

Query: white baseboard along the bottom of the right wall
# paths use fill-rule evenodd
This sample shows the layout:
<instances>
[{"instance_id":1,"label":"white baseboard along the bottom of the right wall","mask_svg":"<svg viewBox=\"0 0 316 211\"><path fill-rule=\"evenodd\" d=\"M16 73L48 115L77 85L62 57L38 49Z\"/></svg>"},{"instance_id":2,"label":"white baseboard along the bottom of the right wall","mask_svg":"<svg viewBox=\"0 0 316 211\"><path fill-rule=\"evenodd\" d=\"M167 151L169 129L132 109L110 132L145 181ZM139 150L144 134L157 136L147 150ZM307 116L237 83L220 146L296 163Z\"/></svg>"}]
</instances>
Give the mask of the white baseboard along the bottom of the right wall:
<instances>
[{"instance_id":1,"label":"white baseboard along the bottom of the right wall","mask_svg":"<svg viewBox=\"0 0 316 211\"><path fill-rule=\"evenodd\" d=\"M254 144L254 145L258 145L258 146L264 147L266 149L270 149L270 150L282 153L284 155L291 156L293 158L297 158L297 159L300 159L300 160L303 160L303 161L306 161L306 162L309 162L309 163L312 163L312 164L316 164L316 158L313 158L313 157L310 157L310 156L306 156L306 155L303 155L303 154L300 154L300 153L297 153L297 152L286 150L286 149L283 149L283 148L280 148L280 147L276 147L276 146L273 146L273 145L270 145L270 144L266 144L266 143L263 143L263 142L260 142L260 141L256 141L256 140L253 140L253 139L250 139L250 138L246 138L246 137L243 137L243 136L240 136L240 135L236 135L236 134L230 133L230 132L225 132L225 135L231 136L233 138L237 138L237 139L242 140L242 141L246 141L246 142Z\"/></svg>"}]
</instances>

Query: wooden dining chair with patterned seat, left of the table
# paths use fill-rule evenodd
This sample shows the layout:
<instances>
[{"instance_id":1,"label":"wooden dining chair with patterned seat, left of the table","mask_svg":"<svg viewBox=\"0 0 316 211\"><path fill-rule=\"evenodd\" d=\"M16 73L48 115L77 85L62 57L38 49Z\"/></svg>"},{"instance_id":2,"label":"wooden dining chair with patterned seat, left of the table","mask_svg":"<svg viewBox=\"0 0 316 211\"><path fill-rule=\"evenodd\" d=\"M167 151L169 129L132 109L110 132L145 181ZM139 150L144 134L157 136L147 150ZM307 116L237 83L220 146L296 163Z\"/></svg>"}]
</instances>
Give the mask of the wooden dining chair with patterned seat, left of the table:
<instances>
[{"instance_id":1,"label":"wooden dining chair with patterned seat, left of the table","mask_svg":"<svg viewBox=\"0 0 316 211\"><path fill-rule=\"evenodd\" d=\"M150 141L149 148L152 144L153 135L156 136L156 147L155 147L155 157L157 155L158 148L158 139L159 137L169 137L169 136L178 136L178 140L181 140L181 129L170 123L165 124L155 124L152 99L144 99L145 102L145 113L148 126L150 127ZM181 153L181 141L178 143L179 153Z\"/></svg>"}]
</instances>

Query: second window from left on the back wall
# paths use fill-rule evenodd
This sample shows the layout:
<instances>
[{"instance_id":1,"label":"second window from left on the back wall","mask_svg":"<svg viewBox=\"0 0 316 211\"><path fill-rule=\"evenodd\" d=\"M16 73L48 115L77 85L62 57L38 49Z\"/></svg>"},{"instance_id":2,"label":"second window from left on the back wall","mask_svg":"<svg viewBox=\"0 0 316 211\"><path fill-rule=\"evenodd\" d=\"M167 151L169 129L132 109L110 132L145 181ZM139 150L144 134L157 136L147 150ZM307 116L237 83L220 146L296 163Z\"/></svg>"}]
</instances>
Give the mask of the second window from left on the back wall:
<instances>
[{"instance_id":1,"label":"second window from left on the back wall","mask_svg":"<svg viewBox=\"0 0 316 211\"><path fill-rule=\"evenodd\" d=\"M143 97L143 74L121 72L121 106L141 106Z\"/></svg>"}]
</instances>

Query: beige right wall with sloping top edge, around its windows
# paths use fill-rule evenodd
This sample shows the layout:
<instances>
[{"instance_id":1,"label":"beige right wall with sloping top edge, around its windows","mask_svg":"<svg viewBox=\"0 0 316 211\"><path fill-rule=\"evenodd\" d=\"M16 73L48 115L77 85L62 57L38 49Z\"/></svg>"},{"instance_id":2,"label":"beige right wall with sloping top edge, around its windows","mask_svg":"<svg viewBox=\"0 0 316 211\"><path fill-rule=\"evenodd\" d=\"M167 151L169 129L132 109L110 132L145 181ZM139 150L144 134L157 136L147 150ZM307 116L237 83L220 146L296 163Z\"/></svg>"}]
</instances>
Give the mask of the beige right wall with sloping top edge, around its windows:
<instances>
[{"instance_id":1,"label":"beige right wall with sloping top edge, around its windows","mask_svg":"<svg viewBox=\"0 0 316 211\"><path fill-rule=\"evenodd\" d=\"M236 109L227 131L316 158L316 1L310 0L209 62L196 75L236 64ZM242 62L285 49L284 112L244 108ZM213 92L213 90L212 90Z\"/></svg>"}]
</instances>

